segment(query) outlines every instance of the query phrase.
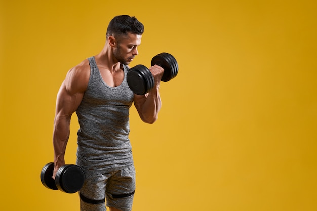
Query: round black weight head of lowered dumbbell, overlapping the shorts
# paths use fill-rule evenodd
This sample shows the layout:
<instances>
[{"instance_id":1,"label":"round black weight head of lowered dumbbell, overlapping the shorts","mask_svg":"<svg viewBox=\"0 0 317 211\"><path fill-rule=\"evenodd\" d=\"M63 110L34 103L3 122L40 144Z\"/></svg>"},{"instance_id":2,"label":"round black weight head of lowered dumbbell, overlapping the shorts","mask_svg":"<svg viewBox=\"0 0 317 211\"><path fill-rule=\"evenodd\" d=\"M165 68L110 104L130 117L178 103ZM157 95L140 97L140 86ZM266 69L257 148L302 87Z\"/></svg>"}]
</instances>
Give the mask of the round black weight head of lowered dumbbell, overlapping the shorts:
<instances>
[{"instance_id":1,"label":"round black weight head of lowered dumbbell, overlapping the shorts","mask_svg":"<svg viewBox=\"0 0 317 211\"><path fill-rule=\"evenodd\" d=\"M82 168L77 165L67 164L60 167L55 176L55 183L59 190L66 193L79 191L85 181Z\"/></svg>"}]
</instances>

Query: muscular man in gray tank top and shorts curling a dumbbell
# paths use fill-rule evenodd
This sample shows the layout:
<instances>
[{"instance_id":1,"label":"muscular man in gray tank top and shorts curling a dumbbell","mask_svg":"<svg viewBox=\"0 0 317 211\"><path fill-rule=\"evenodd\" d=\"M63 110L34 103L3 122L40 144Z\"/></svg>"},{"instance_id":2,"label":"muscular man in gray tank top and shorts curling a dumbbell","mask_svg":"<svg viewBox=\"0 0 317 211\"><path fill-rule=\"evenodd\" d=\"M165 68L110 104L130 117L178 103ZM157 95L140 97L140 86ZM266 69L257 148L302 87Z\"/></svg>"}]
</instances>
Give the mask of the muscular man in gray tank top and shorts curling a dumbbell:
<instances>
[{"instance_id":1,"label":"muscular man in gray tank top and shorts curling a dumbbell","mask_svg":"<svg viewBox=\"0 0 317 211\"><path fill-rule=\"evenodd\" d=\"M154 123L161 109L159 94L163 68L149 68L154 88L146 95L133 94L127 66L138 55L144 26L135 17L114 17L107 28L102 51L71 68L57 94L54 119L54 173L65 164L71 115L76 112L76 164L85 172L80 190L81 211L130 211L135 191L135 170L129 140L129 109ZM106 205L105 205L106 201Z\"/></svg>"}]
</instances>

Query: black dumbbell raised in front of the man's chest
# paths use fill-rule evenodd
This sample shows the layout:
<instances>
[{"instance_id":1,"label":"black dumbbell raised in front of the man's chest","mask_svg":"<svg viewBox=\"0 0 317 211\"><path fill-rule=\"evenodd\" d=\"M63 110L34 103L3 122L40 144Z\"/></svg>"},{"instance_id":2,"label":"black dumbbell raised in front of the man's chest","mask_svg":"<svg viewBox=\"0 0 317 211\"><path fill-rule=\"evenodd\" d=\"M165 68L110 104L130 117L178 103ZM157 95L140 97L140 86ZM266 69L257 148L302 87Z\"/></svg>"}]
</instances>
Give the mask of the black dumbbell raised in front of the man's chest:
<instances>
[{"instance_id":1,"label":"black dumbbell raised in front of the man's chest","mask_svg":"<svg viewBox=\"0 0 317 211\"><path fill-rule=\"evenodd\" d=\"M178 73L178 63L171 54L157 54L151 61L151 66L155 64L164 69L161 81L167 82L176 77ZM127 82L132 92L137 95L145 95L153 88L154 77L147 67L139 64L129 69Z\"/></svg>"}]
</instances>

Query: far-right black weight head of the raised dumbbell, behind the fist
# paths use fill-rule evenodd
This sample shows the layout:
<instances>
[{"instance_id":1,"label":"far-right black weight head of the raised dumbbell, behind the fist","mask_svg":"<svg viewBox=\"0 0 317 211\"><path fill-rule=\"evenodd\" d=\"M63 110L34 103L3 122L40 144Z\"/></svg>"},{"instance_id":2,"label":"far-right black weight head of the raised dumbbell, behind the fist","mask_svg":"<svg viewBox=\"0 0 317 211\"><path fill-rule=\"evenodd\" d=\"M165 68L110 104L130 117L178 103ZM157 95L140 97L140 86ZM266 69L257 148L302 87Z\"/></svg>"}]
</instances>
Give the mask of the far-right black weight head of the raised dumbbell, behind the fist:
<instances>
[{"instance_id":1,"label":"far-right black weight head of the raised dumbbell, behind the fist","mask_svg":"<svg viewBox=\"0 0 317 211\"><path fill-rule=\"evenodd\" d=\"M151 66L155 64L160 65L164 69L161 81L167 82L176 77L178 73L178 63L171 54L165 52L157 54L151 60Z\"/></svg>"}]
</instances>

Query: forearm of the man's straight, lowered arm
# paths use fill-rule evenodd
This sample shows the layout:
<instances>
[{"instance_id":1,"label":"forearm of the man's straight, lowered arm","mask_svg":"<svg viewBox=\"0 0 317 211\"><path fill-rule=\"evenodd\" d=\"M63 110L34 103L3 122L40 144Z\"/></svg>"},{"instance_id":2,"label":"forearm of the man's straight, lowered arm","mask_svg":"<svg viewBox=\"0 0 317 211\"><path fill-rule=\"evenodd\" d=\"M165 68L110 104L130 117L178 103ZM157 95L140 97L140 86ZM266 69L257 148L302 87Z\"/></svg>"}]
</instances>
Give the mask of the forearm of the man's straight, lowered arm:
<instances>
[{"instance_id":1,"label":"forearm of the man's straight, lowered arm","mask_svg":"<svg viewBox=\"0 0 317 211\"><path fill-rule=\"evenodd\" d=\"M54 119L53 148L55 166L65 165L65 151L69 138L70 117L57 115Z\"/></svg>"}]
</instances>

